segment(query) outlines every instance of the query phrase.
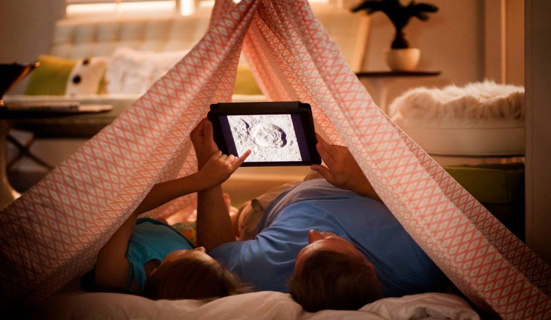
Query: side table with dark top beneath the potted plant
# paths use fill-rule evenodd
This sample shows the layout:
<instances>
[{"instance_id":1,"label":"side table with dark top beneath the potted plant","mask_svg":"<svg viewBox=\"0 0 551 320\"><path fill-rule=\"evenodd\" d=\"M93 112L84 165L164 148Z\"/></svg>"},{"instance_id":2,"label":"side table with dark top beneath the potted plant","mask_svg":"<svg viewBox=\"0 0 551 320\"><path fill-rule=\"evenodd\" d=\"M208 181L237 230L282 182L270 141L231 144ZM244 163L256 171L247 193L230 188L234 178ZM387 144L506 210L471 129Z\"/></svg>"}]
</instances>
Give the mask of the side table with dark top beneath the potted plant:
<instances>
[{"instance_id":1,"label":"side table with dark top beneath the potted plant","mask_svg":"<svg viewBox=\"0 0 551 320\"><path fill-rule=\"evenodd\" d=\"M361 71L356 73L358 79L368 80L371 85L371 97L385 113L388 112L387 98L392 83L399 78L414 78L440 75L441 71Z\"/></svg>"}]
</instances>

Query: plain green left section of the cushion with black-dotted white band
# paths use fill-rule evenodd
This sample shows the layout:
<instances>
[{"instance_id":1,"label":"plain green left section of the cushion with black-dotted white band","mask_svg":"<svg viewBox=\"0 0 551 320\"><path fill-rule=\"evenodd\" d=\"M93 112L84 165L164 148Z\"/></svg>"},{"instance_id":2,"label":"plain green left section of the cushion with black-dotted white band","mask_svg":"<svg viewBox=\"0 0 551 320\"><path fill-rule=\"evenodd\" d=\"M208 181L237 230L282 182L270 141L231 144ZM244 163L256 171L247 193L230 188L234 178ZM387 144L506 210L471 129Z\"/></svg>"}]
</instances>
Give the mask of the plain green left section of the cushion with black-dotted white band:
<instances>
[{"instance_id":1,"label":"plain green left section of the cushion with black-dotted white band","mask_svg":"<svg viewBox=\"0 0 551 320\"><path fill-rule=\"evenodd\" d=\"M25 88L25 95L63 96L71 70L77 60L63 59L42 54L38 57L40 63L30 75Z\"/></svg>"}]
</instances>

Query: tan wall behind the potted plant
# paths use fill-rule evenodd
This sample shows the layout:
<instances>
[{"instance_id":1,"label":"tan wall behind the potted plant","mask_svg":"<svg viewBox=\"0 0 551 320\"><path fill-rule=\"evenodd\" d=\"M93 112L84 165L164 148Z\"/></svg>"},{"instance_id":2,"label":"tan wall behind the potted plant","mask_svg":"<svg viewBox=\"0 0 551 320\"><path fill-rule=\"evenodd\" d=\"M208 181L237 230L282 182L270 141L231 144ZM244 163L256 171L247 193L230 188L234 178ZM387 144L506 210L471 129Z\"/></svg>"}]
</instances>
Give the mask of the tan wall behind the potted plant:
<instances>
[{"instance_id":1,"label":"tan wall behind the potted plant","mask_svg":"<svg viewBox=\"0 0 551 320\"><path fill-rule=\"evenodd\" d=\"M404 32L410 47L422 51L417 69L441 71L441 75L393 80L387 98L389 103L410 87L464 85L484 78L484 1L426 2L435 4L439 11L430 14L427 21L412 18ZM389 70L385 52L390 49L394 27L381 12L372 14L371 18L364 70ZM369 81L364 82L369 90Z\"/></svg>"}]
</instances>

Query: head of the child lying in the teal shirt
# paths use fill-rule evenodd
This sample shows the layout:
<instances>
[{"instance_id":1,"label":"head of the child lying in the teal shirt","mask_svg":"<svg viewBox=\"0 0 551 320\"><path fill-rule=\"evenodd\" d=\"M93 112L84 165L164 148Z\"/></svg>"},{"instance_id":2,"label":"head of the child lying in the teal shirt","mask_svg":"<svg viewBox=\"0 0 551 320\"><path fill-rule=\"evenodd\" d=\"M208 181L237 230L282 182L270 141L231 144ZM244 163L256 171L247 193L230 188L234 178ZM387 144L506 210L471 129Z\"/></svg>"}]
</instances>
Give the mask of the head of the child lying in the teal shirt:
<instances>
[{"instance_id":1,"label":"head of the child lying in the teal shirt","mask_svg":"<svg viewBox=\"0 0 551 320\"><path fill-rule=\"evenodd\" d=\"M145 295L153 299L209 299L248 291L203 247L169 253L145 282Z\"/></svg>"}]
</instances>

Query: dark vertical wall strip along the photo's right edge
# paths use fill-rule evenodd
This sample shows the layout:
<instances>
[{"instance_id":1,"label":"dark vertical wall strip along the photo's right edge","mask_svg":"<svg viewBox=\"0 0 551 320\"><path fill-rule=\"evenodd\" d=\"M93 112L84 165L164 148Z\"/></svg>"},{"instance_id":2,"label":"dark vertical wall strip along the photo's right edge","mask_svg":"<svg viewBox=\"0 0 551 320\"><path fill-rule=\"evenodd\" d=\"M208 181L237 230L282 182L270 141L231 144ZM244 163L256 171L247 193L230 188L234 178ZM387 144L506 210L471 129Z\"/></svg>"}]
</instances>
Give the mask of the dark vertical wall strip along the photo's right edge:
<instances>
[{"instance_id":1,"label":"dark vertical wall strip along the photo's right edge","mask_svg":"<svg viewBox=\"0 0 551 320\"><path fill-rule=\"evenodd\" d=\"M551 1L526 1L526 243L551 264Z\"/></svg>"}]
</instances>

